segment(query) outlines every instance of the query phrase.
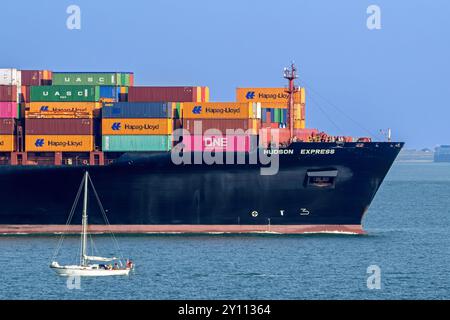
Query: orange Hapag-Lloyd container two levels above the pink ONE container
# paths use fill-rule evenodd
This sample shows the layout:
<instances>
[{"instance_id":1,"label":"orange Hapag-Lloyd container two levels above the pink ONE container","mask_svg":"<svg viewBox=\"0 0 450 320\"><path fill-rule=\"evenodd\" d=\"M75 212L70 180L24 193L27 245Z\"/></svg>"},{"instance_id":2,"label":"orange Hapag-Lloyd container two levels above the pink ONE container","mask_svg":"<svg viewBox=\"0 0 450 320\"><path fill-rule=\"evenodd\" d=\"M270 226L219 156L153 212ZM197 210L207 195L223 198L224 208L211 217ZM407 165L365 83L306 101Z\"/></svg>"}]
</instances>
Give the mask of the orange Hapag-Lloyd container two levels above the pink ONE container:
<instances>
[{"instance_id":1,"label":"orange Hapag-Lloyd container two levels above the pink ONE container","mask_svg":"<svg viewBox=\"0 0 450 320\"><path fill-rule=\"evenodd\" d=\"M238 102L184 102L184 119L252 119L261 117L261 104Z\"/></svg>"}]
</instances>

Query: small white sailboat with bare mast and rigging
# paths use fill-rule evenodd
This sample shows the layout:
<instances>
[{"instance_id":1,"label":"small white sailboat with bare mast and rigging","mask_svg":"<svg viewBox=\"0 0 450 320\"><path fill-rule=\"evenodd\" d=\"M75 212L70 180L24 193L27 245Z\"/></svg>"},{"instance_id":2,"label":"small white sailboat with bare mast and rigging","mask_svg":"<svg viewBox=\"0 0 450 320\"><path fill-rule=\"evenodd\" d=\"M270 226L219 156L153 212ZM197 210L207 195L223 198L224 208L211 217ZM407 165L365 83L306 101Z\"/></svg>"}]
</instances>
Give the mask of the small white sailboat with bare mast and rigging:
<instances>
[{"instance_id":1,"label":"small white sailboat with bare mast and rigging","mask_svg":"<svg viewBox=\"0 0 450 320\"><path fill-rule=\"evenodd\" d=\"M127 259L124 264L123 258L110 257L105 258L101 256L88 255L88 184L91 184L92 190L97 198L98 204L100 206L101 212L103 214L103 218L107 225L109 225L108 218L106 217L105 210L100 202L100 198L98 197L97 191L94 188L94 184L89 176L88 171L83 176L80 187L78 189L77 196L75 198L75 202L72 206L72 210L70 212L69 218L67 220L66 226L69 226L72 217L74 215L75 209L77 207L77 203L80 197L81 190L84 186L84 201L83 201L83 216L82 216L82 229L81 229L81 254L80 254L80 262L75 265L60 265L57 261L55 261L56 256L58 255L59 250L61 249L62 243L64 241L64 233L61 235L60 241L58 243L58 247L55 250L55 253L52 258L52 262L50 264L50 268L55 271L60 276L123 276L128 275L130 271L134 268L131 260ZM114 239L114 243L116 244L117 251L120 253L120 249L117 243L116 238L113 233L111 235ZM99 262L103 262L104 264L100 264ZM106 264L109 263L109 264ZM114 263L114 266L112 265Z\"/></svg>"}]
</instances>

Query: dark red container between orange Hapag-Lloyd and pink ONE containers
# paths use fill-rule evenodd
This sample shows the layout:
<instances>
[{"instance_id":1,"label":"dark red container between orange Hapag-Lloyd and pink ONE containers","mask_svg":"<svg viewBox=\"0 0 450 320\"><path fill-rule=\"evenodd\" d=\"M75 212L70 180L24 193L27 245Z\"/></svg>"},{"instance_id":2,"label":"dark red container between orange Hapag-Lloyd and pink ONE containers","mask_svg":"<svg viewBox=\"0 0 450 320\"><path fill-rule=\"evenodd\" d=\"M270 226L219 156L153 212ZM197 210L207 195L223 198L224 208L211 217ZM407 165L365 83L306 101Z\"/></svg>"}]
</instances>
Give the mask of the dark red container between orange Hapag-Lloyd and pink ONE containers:
<instances>
[{"instance_id":1,"label":"dark red container between orange Hapag-Lloyd and pink ONE containers","mask_svg":"<svg viewBox=\"0 0 450 320\"><path fill-rule=\"evenodd\" d=\"M194 124L197 123L197 129ZM255 119L183 119L183 129L190 132L191 135L203 135L206 130L216 129L223 135L227 129L249 130L249 134L257 134L260 127L260 121Z\"/></svg>"}]
</instances>

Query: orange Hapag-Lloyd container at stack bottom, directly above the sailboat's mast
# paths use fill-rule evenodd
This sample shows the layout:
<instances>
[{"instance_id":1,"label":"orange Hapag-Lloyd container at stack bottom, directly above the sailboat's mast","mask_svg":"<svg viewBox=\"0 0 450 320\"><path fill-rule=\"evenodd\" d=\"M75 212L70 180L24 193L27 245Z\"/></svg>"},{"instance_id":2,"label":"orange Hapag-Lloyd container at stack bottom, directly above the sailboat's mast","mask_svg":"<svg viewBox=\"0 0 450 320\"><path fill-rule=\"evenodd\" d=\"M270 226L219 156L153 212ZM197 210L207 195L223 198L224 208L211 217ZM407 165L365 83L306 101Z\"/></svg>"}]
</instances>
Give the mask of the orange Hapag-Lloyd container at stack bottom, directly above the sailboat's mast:
<instances>
[{"instance_id":1,"label":"orange Hapag-Lloyd container at stack bottom, directly above the sailboat's mast","mask_svg":"<svg viewBox=\"0 0 450 320\"><path fill-rule=\"evenodd\" d=\"M88 152L94 150L94 136L26 135L28 152Z\"/></svg>"}]
</instances>

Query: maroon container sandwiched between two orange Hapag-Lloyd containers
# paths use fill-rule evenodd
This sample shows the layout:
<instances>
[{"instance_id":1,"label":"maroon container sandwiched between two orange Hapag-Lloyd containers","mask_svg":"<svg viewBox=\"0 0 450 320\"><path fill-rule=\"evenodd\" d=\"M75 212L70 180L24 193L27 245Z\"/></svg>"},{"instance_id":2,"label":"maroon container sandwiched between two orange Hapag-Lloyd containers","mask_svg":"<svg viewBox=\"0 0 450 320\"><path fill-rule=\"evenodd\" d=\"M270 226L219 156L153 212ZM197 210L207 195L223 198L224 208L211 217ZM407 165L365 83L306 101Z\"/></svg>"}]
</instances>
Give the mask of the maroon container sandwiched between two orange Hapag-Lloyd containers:
<instances>
[{"instance_id":1,"label":"maroon container sandwiched between two orange Hapag-Lloyd containers","mask_svg":"<svg viewBox=\"0 0 450 320\"><path fill-rule=\"evenodd\" d=\"M92 119L29 119L25 120L29 135L93 135Z\"/></svg>"}]
</instances>

